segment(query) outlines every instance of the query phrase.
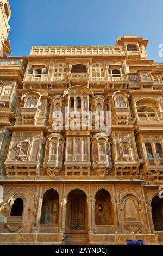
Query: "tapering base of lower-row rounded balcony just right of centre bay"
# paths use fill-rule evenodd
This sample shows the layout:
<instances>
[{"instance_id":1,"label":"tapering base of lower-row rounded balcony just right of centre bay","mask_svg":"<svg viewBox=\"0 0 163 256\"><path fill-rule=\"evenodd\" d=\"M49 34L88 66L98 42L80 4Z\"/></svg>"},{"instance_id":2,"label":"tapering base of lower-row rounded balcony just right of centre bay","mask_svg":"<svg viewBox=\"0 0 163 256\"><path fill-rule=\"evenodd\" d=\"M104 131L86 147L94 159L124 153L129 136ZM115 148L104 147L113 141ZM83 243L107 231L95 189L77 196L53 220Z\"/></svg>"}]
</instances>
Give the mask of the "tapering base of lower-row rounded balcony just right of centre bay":
<instances>
[{"instance_id":1,"label":"tapering base of lower-row rounded balcony just right of centre bay","mask_svg":"<svg viewBox=\"0 0 163 256\"><path fill-rule=\"evenodd\" d=\"M92 167L96 171L97 175L101 179L104 179L112 168L111 157L108 155L100 155L97 158L98 159L93 160Z\"/></svg>"}]
</instances>

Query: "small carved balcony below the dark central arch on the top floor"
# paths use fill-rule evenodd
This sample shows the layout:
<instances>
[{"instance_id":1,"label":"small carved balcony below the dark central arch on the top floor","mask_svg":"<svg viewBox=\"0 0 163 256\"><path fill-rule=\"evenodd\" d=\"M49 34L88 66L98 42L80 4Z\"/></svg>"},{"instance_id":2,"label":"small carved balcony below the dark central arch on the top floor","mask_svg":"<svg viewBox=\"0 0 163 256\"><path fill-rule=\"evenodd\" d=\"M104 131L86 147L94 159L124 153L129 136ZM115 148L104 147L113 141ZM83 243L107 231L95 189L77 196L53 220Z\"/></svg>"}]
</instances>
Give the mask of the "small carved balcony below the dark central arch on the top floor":
<instances>
[{"instance_id":1,"label":"small carved balcony below the dark central arch on the top floor","mask_svg":"<svg viewBox=\"0 0 163 256\"><path fill-rule=\"evenodd\" d=\"M90 75L87 73L69 73L67 77L71 85L82 84L87 86L90 79Z\"/></svg>"}]
</instances>

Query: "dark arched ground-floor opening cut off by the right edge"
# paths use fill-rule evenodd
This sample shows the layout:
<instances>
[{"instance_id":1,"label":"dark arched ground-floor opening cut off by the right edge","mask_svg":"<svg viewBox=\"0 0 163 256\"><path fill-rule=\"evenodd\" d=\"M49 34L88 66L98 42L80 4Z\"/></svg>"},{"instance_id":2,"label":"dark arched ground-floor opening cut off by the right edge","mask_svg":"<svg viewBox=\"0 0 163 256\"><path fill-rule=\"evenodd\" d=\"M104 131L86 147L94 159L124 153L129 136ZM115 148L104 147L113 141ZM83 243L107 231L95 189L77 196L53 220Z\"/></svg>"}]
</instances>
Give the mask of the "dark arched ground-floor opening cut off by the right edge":
<instances>
[{"instance_id":1,"label":"dark arched ground-floor opening cut off by the right edge","mask_svg":"<svg viewBox=\"0 0 163 256\"><path fill-rule=\"evenodd\" d=\"M163 231L163 200L155 196L151 202L152 220L155 231Z\"/></svg>"}]
</instances>

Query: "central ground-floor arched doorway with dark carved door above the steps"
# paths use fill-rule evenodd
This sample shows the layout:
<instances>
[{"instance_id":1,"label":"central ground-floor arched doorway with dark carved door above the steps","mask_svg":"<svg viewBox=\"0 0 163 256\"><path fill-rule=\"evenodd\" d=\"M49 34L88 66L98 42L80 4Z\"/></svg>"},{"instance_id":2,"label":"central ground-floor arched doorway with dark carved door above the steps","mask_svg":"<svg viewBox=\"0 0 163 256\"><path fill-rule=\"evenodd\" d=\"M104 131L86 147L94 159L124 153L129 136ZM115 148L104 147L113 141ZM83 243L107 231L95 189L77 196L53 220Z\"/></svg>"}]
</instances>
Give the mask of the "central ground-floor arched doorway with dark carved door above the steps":
<instances>
[{"instance_id":1,"label":"central ground-floor arched doorway with dark carved door above the steps","mask_svg":"<svg viewBox=\"0 0 163 256\"><path fill-rule=\"evenodd\" d=\"M66 207L66 230L87 230L86 194L82 190L72 190L68 194Z\"/></svg>"}]
</instances>

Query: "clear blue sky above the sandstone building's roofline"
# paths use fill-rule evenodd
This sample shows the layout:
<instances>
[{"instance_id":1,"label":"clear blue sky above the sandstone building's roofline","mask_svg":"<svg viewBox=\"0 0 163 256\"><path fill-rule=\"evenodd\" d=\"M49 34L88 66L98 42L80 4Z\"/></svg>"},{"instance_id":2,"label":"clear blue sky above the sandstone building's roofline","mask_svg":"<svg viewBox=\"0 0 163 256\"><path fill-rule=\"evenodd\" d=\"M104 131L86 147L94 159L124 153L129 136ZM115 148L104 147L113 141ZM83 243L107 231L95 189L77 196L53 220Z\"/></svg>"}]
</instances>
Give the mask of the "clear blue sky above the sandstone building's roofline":
<instances>
[{"instance_id":1,"label":"clear blue sky above the sandstone building's roofline","mask_svg":"<svg viewBox=\"0 0 163 256\"><path fill-rule=\"evenodd\" d=\"M115 45L117 36L148 39L149 59L163 62L162 0L9 0L13 56L33 45Z\"/></svg>"}]
</instances>

